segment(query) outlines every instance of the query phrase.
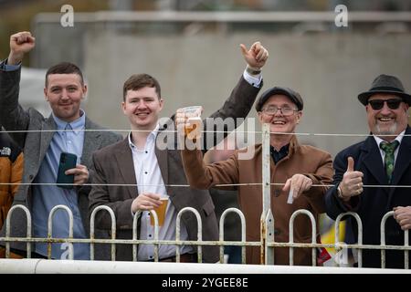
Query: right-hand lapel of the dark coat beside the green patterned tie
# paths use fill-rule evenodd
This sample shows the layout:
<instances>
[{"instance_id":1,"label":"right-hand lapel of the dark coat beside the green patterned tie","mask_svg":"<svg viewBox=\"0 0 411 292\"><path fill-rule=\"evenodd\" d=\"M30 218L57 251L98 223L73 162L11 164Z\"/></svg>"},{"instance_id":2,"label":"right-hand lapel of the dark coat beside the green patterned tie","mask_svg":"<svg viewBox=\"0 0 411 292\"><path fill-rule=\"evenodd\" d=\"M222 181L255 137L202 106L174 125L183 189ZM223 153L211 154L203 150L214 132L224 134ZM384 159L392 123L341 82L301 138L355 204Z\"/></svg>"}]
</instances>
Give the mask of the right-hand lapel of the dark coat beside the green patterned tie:
<instances>
[{"instance_id":1,"label":"right-hand lapel of the dark coat beside the green patterned tie","mask_svg":"<svg viewBox=\"0 0 411 292\"><path fill-rule=\"evenodd\" d=\"M406 128L406 135L411 134L411 128ZM393 185L398 184L411 163L411 137L404 136L399 146L398 155L395 160L395 169L393 172ZM391 188L390 197L395 192L395 188Z\"/></svg>"}]
</instances>

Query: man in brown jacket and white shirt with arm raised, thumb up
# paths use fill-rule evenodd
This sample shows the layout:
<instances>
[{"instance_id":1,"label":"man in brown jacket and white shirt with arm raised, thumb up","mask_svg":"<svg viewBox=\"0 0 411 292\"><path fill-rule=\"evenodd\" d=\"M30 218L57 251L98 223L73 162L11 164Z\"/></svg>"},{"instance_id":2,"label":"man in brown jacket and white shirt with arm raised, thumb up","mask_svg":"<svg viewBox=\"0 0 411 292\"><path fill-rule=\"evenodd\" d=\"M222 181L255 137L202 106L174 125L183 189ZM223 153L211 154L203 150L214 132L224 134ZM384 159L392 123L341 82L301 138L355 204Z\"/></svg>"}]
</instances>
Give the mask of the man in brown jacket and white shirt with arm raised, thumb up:
<instances>
[{"instance_id":1,"label":"man in brown jacket and white shirt with arm raised, thumb up","mask_svg":"<svg viewBox=\"0 0 411 292\"><path fill-rule=\"evenodd\" d=\"M211 115L211 119L245 118L262 86L260 68L269 57L268 51L259 42L249 50L244 45L241 48L248 67L231 96L221 109ZM153 239L150 211L162 204L160 199L164 197L169 199L169 203L164 224L159 229L160 240L175 239L177 213L187 206L195 208L201 216L203 240L217 240L218 225L210 194L183 186L187 181L177 149L176 134L169 131L174 130L174 118L165 124L158 119L163 103L160 85L152 76L133 75L124 83L122 110L130 120L132 131L124 141L93 154L96 175L93 176L90 192L90 213L100 205L111 207L116 216L117 237L131 239L133 214L142 211L137 225L139 238ZM219 142L218 135L214 129L209 130L212 132L206 135L204 141L214 146ZM219 138L222 140L224 137ZM163 143L168 147L163 147ZM206 147L203 149L206 150ZM195 214L184 213L181 219L180 239L197 240ZM106 211L100 211L96 215L96 225L110 230L111 216ZM160 245L160 261L175 261L175 248L175 245ZM180 261L196 262L195 251L195 246L181 245ZM116 256L117 260L132 260L132 245L117 245ZM137 260L153 259L153 245L138 245ZM203 246L203 261L213 263L217 260L218 247Z\"/></svg>"}]
</instances>

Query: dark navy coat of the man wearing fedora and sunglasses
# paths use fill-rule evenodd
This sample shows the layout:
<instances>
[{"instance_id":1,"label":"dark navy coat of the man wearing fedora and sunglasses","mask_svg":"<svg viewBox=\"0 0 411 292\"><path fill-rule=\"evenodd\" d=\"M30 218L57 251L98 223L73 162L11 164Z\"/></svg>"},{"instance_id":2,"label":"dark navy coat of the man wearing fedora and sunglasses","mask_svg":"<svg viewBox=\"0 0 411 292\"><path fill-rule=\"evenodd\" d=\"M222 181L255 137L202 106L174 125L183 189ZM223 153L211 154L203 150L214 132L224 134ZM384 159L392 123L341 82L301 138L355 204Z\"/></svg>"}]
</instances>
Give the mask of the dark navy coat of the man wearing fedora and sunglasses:
<instances>
[{"instance_id":1,"label":"dark navy coat of the man wearing fedora and sunglasses","mask_svg":"<svg viewBox=\"0 0 411 292\"><path fill-rule=\"evenodd\" d=\"M411 129L406 128L406 135L411 134ZM354 160L354 170L363 172L363 183L366 185L387 185L384 162L374 137L370 136L365 141L354 144L338 153L334 160L334 182L342 181L342 176L347 170L347 158ZM411 184L411 137L404 137L398 150L393 172L393 185ZM365 245L380 245L380 223L384 214L392 211L395 206L411 205L411 193L407 188L367 188L364 193L355 196L345 205L338 198L336 187L330 189L325 196L327 214L335 219L338 214L354 211L358 213L363 222L363 241ZM356 242L357 228L353 219L349 219L347 232L352 233ZM350 238L348 239L350 240ZM400 225L391 216L385 225L385 244L404 245L404 232ZM386 267L404 268L404 252L386 251ZM363 250L363 266L381 267L381 252L379 250Z\"/></svg>"}]
</instances>

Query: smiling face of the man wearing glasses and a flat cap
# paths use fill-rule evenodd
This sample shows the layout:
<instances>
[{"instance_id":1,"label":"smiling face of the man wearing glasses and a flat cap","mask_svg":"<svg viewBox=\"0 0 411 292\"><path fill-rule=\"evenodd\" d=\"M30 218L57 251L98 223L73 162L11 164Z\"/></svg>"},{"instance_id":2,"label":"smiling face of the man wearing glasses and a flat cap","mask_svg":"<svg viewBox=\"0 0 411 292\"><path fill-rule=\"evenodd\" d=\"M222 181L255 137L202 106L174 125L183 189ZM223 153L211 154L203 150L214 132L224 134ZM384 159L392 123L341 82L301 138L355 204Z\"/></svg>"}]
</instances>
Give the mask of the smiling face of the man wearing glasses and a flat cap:
<instances>
[{"instance_id":1,"label":"smiling face of the man wearing glasses and a flat cap","mask_svg":"<svg viewBox=\"0 0 411 292\"><path fill-rule=\"evenodd\" d=\"M288 109L290 115L284 115L283 110L277 110L275 113L272 109ZM276 94L271 96L258 111L258 119L261 123L269 123L271 132L293 133L297 124L300 122L302 112L297 110L297 105L287 96ZM272 136L284 136L282 134Z\"/></svg>"}]
</instances>

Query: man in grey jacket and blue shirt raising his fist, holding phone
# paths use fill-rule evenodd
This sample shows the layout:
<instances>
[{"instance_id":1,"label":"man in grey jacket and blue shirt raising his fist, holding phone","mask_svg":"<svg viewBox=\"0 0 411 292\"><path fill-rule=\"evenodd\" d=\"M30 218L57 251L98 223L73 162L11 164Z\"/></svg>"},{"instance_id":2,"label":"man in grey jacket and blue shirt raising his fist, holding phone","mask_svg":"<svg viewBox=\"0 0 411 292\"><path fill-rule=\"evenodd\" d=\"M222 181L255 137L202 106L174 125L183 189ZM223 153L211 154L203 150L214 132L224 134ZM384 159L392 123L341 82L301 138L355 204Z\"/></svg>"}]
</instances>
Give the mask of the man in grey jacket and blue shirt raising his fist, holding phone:
<instances>
[{"instance_id":1,"label":"man in grey jacket and blue shirt raising his fist, holding phone","mask_svg":"<svg viewBox=\"0 0 411 292\"><path fill-rule=\"evenodd\" d=\"M90 186L91 153L122 139L121 135L103 131L80 109L87 93L82 73L71 63L60 63L47 70L45 98L52 114L45 118L32 108L23 110L18 103L20 64L26 53L35 47L29 32L10 37L10 55L0 64L0 119L12 138L24 149L23 184L14 204L26 205L32 216L33 235L47 237L47 217L51 209L63 204L73 214L73 236L89 238L88 194ZM27 130L27 131L26 131ZM89 131L90 130L90 131ZM66 174L74 176L70 189L57 183L60 154L77 156L77 166ZM32 184L31 184L32 183ZM26 215L17 210L12 216L13 236L26 235ZM5 226L4 226L5 229ZM2 235L5 230L2 230ZM53 237L68 237L68 214L58 211L53 220ZM13 243L13 250L26 256L26 244ZM37 243L31 256L47 256L47 245ZM52 258L67 258L68 245L53 244ZM74 244L74 259L90 259L90 245Z\"/></svg>"}]
</instances>

